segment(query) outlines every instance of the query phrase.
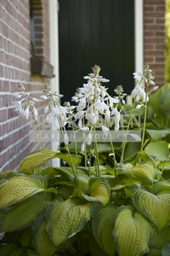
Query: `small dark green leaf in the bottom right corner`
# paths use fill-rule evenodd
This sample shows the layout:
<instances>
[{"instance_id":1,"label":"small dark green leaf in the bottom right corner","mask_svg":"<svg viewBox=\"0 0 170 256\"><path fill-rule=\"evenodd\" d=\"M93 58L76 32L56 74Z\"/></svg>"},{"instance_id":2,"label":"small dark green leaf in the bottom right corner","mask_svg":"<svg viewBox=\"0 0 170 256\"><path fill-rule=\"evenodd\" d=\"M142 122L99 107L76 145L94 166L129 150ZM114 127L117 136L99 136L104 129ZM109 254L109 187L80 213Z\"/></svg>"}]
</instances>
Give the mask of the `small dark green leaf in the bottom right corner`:
<instances>
[{"instance_id":1,"label":"small dark green leaf in the bottom right corner","mask_svg":"<svg viewBox=\"0 0 170 256\"><path fill-rule=\"evenodd\" d=\"M153 237L150 241L150 246L156 247L161 250L167 242L170 243L170 226L166 226L162 230L154 229Z\"/></svg>"}]
</instances>

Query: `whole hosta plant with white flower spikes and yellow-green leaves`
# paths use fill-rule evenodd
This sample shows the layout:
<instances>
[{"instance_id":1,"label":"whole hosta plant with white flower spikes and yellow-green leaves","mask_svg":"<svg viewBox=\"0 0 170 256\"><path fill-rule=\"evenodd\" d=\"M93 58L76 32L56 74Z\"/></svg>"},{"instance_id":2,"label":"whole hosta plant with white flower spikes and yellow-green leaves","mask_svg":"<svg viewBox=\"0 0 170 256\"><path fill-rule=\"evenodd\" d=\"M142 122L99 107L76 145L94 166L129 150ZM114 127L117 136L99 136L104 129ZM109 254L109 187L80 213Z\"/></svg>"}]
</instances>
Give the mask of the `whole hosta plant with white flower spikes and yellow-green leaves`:
<instances>
[{"instance_id":1,"label":"whole hosta plant with white flower spikes and yellow-green leaves","mask_svg":"<svg viewBox=\"0 0 170 256\"><path fill-rule=\"evenodd\" d=\"M45 85L46 122L62 135L56 152L42 141L37 99L20 85L15 111L34 119L42 149L0 174L1 255L170 255L169 91L154 102L165 89L150 96L157 86L144 66L127 106L122 86L110 96L99 71L84 77L73 105Z\"/></svg>"}]
</instances>

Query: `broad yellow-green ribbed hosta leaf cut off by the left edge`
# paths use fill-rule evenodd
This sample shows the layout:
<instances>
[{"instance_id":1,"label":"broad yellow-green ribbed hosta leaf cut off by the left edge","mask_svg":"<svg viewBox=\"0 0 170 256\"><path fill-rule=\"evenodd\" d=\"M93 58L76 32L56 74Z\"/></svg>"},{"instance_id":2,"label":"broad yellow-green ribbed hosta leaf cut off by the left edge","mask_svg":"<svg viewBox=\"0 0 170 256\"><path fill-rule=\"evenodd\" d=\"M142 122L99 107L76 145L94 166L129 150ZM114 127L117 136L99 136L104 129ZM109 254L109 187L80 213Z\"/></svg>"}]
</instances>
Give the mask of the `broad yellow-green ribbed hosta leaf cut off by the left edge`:
<instances>
[{"instance_id":1,"label":"broad yellow-green ribbed hosta leaf cut off by the left edge","mask_svg":"<svg viewBox=\"0 0 170 256\"><path fill-rule=\"evenodd\" d=\"M45 177L11 172L0 182L0 208L8 207L35 195L47 187Z\"/></svg>"}]
</instances>

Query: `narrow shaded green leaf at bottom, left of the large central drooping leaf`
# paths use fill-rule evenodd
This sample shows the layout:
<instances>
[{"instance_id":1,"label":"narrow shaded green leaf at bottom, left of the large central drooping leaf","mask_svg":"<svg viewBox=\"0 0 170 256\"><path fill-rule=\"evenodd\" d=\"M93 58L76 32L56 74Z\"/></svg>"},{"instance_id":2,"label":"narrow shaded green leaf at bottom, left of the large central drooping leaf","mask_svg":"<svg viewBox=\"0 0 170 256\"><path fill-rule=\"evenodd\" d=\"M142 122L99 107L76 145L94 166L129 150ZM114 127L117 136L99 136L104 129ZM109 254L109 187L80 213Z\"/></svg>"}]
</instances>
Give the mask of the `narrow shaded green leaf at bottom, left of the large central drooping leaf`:
<instances>
[{"instance_id":1,"label":"narrow shaded green leaf at bottom, left of the large central drooping leaf","mask_svg":"<svg viewBox=\"0 0 170 256\"><path fill-rule=\"evenodd\" d=\"M45 230L45 221L38 216L32 225L33 245L41 256L51 256L57 249Z\"/></svg>"}]
</instances>

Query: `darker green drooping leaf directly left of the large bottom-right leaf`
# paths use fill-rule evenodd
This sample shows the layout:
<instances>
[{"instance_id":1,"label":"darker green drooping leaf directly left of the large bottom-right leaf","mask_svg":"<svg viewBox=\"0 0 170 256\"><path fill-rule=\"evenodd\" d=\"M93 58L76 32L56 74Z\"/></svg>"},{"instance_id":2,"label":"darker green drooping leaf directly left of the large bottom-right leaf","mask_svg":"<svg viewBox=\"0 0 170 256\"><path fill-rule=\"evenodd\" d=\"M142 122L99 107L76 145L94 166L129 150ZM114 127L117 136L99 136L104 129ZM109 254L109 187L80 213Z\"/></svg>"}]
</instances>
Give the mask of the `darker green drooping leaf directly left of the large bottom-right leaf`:
<instances>
[{"instance_id":1,"label":"darker green drooping leaf directly left of the large bottom-right leaf","mask_svg":"<svg viewBox=\"0 0 170 256\"><path fill-rule=\"evenodd\" d=\"M94 214L92 220L95 240L99 243L99 247L111 256L116 253L114 236L112 234L115 212L115 206L106 205Z\"/></svg>"}]
</instances>

